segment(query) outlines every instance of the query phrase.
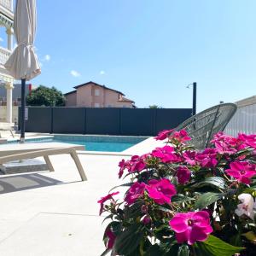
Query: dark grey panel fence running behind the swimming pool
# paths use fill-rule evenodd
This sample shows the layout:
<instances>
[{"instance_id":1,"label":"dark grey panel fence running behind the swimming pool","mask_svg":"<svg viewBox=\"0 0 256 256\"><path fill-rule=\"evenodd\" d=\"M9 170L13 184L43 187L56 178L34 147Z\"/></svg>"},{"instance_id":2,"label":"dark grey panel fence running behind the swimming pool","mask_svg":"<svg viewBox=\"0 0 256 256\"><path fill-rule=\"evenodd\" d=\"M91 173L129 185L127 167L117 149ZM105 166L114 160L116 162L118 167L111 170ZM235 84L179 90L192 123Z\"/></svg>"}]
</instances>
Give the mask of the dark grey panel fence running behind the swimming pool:
<instances>
[{"instance_id":1,"label":"dark grey panel fence running behind the swimming pool","mask_svg":"<svg viewBox=\"0 0 256 256\"><path fill-rule=\"evenodd\" d=\"M191 108L28 107L26 131L154 136L191 116Z\"/></svg>"}]
</instances>

